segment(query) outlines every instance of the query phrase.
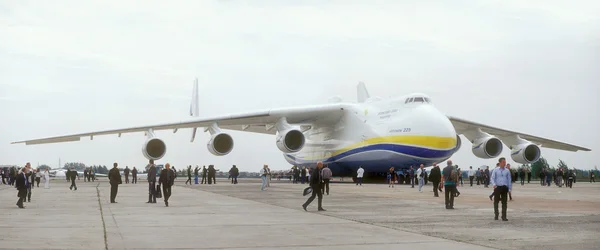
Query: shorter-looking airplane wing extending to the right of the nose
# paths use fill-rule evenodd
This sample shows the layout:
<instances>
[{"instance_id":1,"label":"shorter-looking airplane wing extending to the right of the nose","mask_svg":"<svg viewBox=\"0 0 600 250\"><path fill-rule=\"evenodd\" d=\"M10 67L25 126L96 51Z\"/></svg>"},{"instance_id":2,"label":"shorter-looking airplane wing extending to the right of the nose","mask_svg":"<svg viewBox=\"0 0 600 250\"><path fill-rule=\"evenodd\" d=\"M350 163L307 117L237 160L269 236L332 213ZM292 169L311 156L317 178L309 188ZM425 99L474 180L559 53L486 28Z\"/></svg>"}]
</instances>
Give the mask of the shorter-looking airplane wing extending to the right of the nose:
<instances>
[{"instance_id":1,"label":"shorter-looking airplane wing extending to the right of the nose","mask_svg":"<svg viewBox=\"0 0 600 250\"><path fill-rule=\"evenodd\" d=\"M533 135L528 135L528 134L519 133L519 132L515 132L515 131L510 131L510 130L506 130L506 129L495 128L492 126L488 126L488 125L484 125L484 124L480 124L480 123L476 123L476 122L472 122L472 121L467 121L467 120L452 117L452 116L448 116L448 118L450 119L450 122L452 122L452 124L454 125L454 129L456 130L456 132L458 134L464 135L470 141L477 139L475 137L476 134L473 133L473 131L476 131L477 129L481 129L481 131L483 131L483 132L497 136L503 142L510 141L515 136L519 136L520 138L522 138L524 140L531 141L531 142L541 145L542 147L545 147L545 148L552 148L552 149L559 149L559 150L566 150L566 151L573 151L573 152L577 152L578 150L591 151L591 149L588 149L588 148L584 148L584 147L580 147L580 146L576 146L576 145L572 145L572 144L568 144L568 143L564 143L564 142L559 142L559 141L555 141L555 140L551 140L551 139L546 139L546 138L542 138L542 137L538 137L538 136L533 136ZM508 145L508 146L511 146L511 145Z\"/></svg>"}]
</instances>

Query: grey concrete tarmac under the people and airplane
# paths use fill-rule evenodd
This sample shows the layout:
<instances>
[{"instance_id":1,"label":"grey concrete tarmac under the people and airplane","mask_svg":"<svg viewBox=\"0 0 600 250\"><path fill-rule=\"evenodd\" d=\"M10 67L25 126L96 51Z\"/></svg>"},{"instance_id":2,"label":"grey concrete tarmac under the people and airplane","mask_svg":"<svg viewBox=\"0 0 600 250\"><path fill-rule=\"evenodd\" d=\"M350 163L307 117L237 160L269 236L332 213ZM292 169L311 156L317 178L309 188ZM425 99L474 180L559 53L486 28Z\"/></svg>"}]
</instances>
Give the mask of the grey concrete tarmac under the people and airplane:
<instances>
[{"instance_id":1,"label":"grey concrete tarmac under the people and airplane","mask_svg":"<svg viewBox=\"0 0 600 250\"><path fill-rule=\"evenodd\" d=\"M256 179L238 185L185 186L179 178L169 207L147 204L146 182L119 186L109 203L106 181L52 180L33 189L19 209L16 189L0 185L0 249L598 249L600 185L572 190L515 187L508 222L493 221L490 189L460 188L455 210L433 198L431 185L332 184L327 212L301 208L306 185ZM585 185L584 185L585 184ZM518 190L518 191L517 191ZM521 191L522 190L522 191ZM555 193L568 197L554 202ZM577 198L581 197L581 198ZM486 201L487 199L487 201ZM541 200L541 201L540 201ZM578 201L579 200L579 201ZM560 209L549 208L565 204ZM542 207L531 207L545 204ZM556 211L559 210L559 211Z\"/></svg>"}]
</instances>

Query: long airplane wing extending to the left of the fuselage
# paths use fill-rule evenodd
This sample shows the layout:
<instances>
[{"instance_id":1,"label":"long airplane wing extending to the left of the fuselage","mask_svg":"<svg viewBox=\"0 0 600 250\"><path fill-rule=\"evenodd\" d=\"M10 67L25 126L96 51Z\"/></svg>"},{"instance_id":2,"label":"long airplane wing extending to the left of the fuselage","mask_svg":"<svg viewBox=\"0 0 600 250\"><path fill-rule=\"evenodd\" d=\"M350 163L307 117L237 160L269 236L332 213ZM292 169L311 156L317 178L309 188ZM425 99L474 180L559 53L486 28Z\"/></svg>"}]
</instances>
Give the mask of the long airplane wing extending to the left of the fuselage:
<instances>
[{"instance_id":1,"label":"long airplane wing extending to the left of the fuselage","mask_svg":"<svg viewBox=\"0 0 600 250\"><path fill-rule=\"evenodd\" d=\"M184 122L129 127L122 129L111 129L104 131L17 141L12 142L11 144L25 143L25 145L35 145L46 143L71 142L80 141L82 137L90 137L93 140L94 136L98 135L118 134L120 137L121 134L147 132L150 129L152 129L153 131L173 129L173 132L175 133L178 129L209 127L213 123L217 123L219 128L226 130L275 134L277 132L277 129L274 126L277 123L277 121L279 121L279 119L282 117L285 117L287 119L287 122L290 124L305 124L301 126L301 128L305 130L309 129L310 126L314 124L331 124L337 122L343 115L344 107L345 106L343 104L325 104L298 108L272 109L201 119L196 118L194 120Z\"/></svg>"}]
</instances>

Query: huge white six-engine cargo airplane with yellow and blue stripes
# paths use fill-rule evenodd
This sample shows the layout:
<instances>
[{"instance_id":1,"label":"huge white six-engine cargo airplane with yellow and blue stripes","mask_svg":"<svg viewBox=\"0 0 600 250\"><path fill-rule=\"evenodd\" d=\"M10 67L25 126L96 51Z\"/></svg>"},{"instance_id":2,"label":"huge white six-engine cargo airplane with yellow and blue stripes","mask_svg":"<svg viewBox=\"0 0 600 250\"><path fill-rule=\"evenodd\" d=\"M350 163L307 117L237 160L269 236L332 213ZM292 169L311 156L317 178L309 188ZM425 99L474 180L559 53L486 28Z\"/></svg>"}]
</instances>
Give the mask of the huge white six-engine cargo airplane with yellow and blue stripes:
<instances>
[{"instance_id":1,"label":"huge white six-engine cargo airplane with yellow and blue stripes","mask_svg":"<svg viewBox=\"0 0 600 250\"><path fill-rule=\"evenodd\" d=\"M82 137L145 132L142 153L147 159L163 158L167 146L154 131L191 128L191 142L197 128L205 128L211 138L208 151L224 156L233 150L234 140L225 130L275 135L275 145L285 159L297 166L326 163L335 176L352 176L362 166L366 172L386 172L390 167L449 159L460 149L463 135L472 144L472 152L483 159L495 158L503 144L517 163L532 163L541 156L540 147L576 152L590 149L520 132L495 128L442 114L429 96L414 93L382 99L371 97L360 82L356 103L334 97L328 104L278 108L217 117L198 118L198 80L194 83L190 121L156 124L18 141L26 145L79 141Z\"/></svg>"}]
</instances>

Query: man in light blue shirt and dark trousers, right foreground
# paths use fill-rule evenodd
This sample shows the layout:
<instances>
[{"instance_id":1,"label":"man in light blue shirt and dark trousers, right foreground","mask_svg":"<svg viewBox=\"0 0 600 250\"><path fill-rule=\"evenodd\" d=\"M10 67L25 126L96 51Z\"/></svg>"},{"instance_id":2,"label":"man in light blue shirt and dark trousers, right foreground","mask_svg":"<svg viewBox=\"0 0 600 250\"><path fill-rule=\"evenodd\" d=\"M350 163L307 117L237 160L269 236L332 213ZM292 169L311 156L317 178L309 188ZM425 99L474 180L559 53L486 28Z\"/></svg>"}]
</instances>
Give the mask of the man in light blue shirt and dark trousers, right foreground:
<instances>
[{"instance_id":1,"label":"man in light blue shirt and dark trousers, right foreground","mask_svg":"<svg viewBox=\"0 0 600 250\"><path fill-rule=\"evenodd\" d=\"M494 220L498 220L498 203L502 201L502 221L508 221L506 218L507 195L512 190L512 180L510 170L506 169L506 159L501 157L498 168L492 171L490 184L494 188Z\"/></svg>"}]
</instances>

